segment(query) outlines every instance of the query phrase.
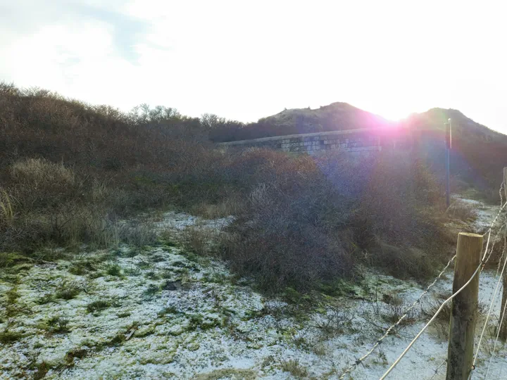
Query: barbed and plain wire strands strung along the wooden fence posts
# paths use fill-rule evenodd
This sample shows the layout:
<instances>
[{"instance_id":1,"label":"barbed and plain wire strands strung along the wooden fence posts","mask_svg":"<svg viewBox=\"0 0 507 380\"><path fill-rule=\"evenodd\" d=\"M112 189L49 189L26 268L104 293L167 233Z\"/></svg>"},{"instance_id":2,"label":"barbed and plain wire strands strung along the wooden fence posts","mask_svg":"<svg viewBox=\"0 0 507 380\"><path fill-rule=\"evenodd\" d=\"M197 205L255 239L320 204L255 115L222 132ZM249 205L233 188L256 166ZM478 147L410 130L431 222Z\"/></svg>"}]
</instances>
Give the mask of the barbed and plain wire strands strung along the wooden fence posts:
<instances>
[{"instance_id":1,"label":"barbed and plain wire strands strung along the wooden fence posts","mask_svg":"<svg viewBox=\"0 0 507 380\"><path fill-rule=\"evenodd\" d=\"M475 269L475 272L472 274L472 276L470 277L470 279L468 279L468 281L463 286L461 286L460 289L458 289L458 291L454 292L449 298L447 298L446 300L444 300L443 303L441 303L441 305L439 306L438 310L434 313L434 315L432 315L432 317L427 322L427 324L425 324L425 326L423 327L423 329L421 329L418 332L418 334L415 335L415 337L413 338L413 340L403 350L403 352L401 353L401 355L399 355L399 357L392 363L392 365L389 367L389 369L387 369L387 371L380 377L380 380L383 380L383 379L387 378L387 376L392 372L392 370L396 367L396 365L398 365L399 362L403 359L403 357L408 353L408 351L411 350L412 346L418 340L418 338L420 338L420 336L422 336L422 334L427 329L427 327L429 327L430 324L432 324L432 322L434 321L434 319L437 318L437 316L439 315L439 313L442 312L444 306L447 303L449 303L453 298L455 298L459 293L461 293L461 291L463 291L463 289L465 289L465 287L468 286L468 284L470 284L470 282L472 281L472 279L474 279L475 276L477 276L478 273L480 273L480 272L482 272L482 270L484 270L485 265L487 264L487 262L489 262L490 258L492 258L492 255L494 253L494 247L495 247L496 241L498 239L498 236L503 231L503 248L502 248L502 251L501 251L501 257L499 259L499 264L498 264L498 267L497 267L497 270L496 270L496 277L499 277L499 279L496 282L496 287L495 287L494 293L492 295L492 300L491 300L491 303L489 303L487 317L486 317L486 319L484 321L484 325L483 325L482 330L481 330L479 342L477 343L477 348L475 350L475 355L474 355L474 358L473 358L473 366L472 366L472 369L475 369L475 365L476 365L476 362L477 362L477 357L478 357L478 355L480 353L481 344L482 344L483 338L484 338L484 332L486 331L489 319L492 316L492 310L493 310L494 302L496 300L496 296L497 296L498 291L500 289L500 283L502 281L503 275L504 275L504 273L506 271L506 267L507 267L507 256L505 255L506 246L507 246L507 220L504 221L503 224L501 224L501 227L499 227L499 229L496 231L496 234L494 235L494 238L491 239L492 238L492 232L494 230L496 222L501 217L503 210L507 207L507 199L506 199L506 202L503 203L503 197L502 197L502 192L503 192L503 189L505 189L505 185L506 184L504 182L502 182L502 184L500 186L500 190L499 190L499 194L500 194L500 208L499 208L499 212L493 218L493 220L492 220L491 224L489 225L489 228L487 229L487 231L484 232L484 234L482 235L483 237L487 235L486 247L484 248L484 254L482 255L482 258L480 260L480 264ZM491 245L491 247L490 247L490 245ZM375 341L375 343L373 344L373 346L363 356L358 357L358 359L356 359L355 362L353 362L349 367L347 367L344 370L344 372L342 372L342 374L339 376L339 380L345 379L345 377L346 377L347 374L351 374L351 372L353 372L354 369L356 369L359 365L361 365L375 351L375 349L380 346L380 344L382 343L382 341L384 341L384 339L387 338L387 336L389 336L389 334L391 334L392 331L394 329L396 329L396 327L398 327L399 324L401 324L401 322L403 322L403 319L405 319L408 316L408 314L411 312L411 310L413 310L413 308L415 308L416 305L419 305L421 303L421 300L423 299L423 297L427 295L427 293L430 291L430 289L432 289L432 287L442 277L442 275L444 274L444 272L446 272L446 270L449 268L449 266L451 265L451 263L455 259L456 259L456 255L453 255L453 257L449 260L449 262L447 262L447 264L445 265L445 267L442 269L442 271L439 272L439 274L437 275L437 277L435 277L435 279L432 281L432 283L427 286L427 288L425 289L425 291L423 291L423 293L420 294L420 296L417 298L417 300L415 300L415 302L412 303L403 312L403 315L401 315L401 317L398 319L398 321L396 321L396 323L394 323L391 326L389 326L387 328L387 330L384 332L384 334L382 336L380 336L380 338L378 338L377 341ZM500 270L500 267L501 267L501 270ZM498 341L499 341L499 334L500 334L500 331L501 331L501 324L503 322L503 317L506 314L506 310L507 310L507 302L506 302L505 305L502 305L502 306L503 306L503 308L501 308L502 310L500 310L501 312L500 312L500 315L499 315L499 322L500 323L499 323L499 327L496 330L496 336L494 338L494 345L493 345L491 356L489 357L489 362L488 362L487 369L486 369L486 372L485 372L485 375L484 375L485 376L484 379L487 378L487 374L489 373L489 369L490 369L490 367L492 365L492 360L493 360L495 352L496 352L496 347L497 347L497 344L498 344ZM439 364L439 366L436 369L434 369L435 373L431 377L431 379L434 379L434 377L437 376L437 374L439 373L439 369L441 369L446 364L446 362L447 362L447 359L445 359L443 362L441 362ZM470 371L469 379L470 379L471 376L472 376L472 371Z\"/></svg>"}]
</instances>

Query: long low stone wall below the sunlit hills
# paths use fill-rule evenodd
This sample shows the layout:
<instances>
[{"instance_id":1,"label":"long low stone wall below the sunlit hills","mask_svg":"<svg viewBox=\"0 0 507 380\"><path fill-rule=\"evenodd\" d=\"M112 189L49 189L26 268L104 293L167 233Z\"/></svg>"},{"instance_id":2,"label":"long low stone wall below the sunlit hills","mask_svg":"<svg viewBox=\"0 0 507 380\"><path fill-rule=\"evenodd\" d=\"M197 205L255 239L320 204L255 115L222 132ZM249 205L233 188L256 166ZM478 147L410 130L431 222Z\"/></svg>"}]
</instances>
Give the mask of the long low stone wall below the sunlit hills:
<instances>
[{"instance_id":1,"label":"long low stone wall below the sunlit hills","mask_svg":"<svg viewBox=\"0 0 507 380\"><path fill-rule=\"evenodd\" d=\"M321 151L370 153L382 149L408 148L411 139L404 131L394 129L349 129L344 131L290 134L261 139L230 141L219 146L272 148L287 152L315 154Z\"/></svg>"}]
</instances>

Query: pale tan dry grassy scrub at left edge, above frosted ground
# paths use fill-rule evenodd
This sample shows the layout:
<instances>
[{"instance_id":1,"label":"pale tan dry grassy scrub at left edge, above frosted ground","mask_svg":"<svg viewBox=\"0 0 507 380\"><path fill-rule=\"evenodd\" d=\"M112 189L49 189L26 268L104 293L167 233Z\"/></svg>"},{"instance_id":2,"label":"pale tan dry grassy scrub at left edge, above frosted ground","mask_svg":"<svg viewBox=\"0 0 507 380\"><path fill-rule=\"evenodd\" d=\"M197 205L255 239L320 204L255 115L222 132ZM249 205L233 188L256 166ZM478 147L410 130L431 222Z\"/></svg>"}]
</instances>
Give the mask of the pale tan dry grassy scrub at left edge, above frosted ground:
<instances>
[{"instance_id":1,"label":"pale tan dry grassy scrub at left edge, above frosted ground","mask_svg":"<svg viewBox=\"0 0 507 380\"><path fill-rule=\"evenodd\" d=\"M49 241L105 247L118 241L104 184L83 182L70 168L43 159L15 161L7 179L14 196L4 192L3 198L15 198L18 211L4 223L1 248L34 250Z\"/></svg>"}]
</instances>

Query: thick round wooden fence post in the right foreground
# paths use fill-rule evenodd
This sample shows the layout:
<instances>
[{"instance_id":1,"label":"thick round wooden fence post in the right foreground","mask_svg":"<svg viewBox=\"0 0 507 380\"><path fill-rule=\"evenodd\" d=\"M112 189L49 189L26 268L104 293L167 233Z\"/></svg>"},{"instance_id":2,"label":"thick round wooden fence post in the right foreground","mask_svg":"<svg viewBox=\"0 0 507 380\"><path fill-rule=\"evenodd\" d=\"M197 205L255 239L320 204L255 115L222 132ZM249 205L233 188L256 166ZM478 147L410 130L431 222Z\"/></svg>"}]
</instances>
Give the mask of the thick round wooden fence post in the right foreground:
<instances>
[{"instance_id":1,"label":"thick round wooden fence post in the right foreground","mask_svg":"<svg viewBox=\"0 0 507 380\"><path fill-rule=\"evenodd\" d=\"M481 253L482 235L464 232L458 234L453 293L461 289L477 270ZM478 300L479 273L452 300L446 380L467 380L472 370Z\"/></svg>"}]
</instances>

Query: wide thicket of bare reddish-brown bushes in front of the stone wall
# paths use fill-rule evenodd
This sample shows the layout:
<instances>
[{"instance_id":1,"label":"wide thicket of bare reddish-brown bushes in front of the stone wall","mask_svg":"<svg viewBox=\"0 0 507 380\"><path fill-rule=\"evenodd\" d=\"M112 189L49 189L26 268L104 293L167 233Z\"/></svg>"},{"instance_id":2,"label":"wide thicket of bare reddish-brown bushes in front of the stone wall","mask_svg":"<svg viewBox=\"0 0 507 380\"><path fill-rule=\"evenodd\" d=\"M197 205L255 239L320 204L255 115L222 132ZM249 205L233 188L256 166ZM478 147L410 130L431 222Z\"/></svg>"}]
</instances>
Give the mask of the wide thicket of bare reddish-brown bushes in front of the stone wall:
<instances>
[{"instance_id":1,"label":"wide thicket of bare reddish-brown bushes in front of the stone wall","mask_svg":"<svg viewBox=\"0 0 507 380\"><path fill-rule=\"evenodd\" d=\"M253 150L237 161L249 172L245 181L258 185L227 229L223 254L262 289L306 291L351 276L363 260L358 251L397 277L418 279L446 259L449 236L433 218L442 210L440 189L416 160ZM252 162L259 165L253 172Z\"/></svg>"}]
</instances>

